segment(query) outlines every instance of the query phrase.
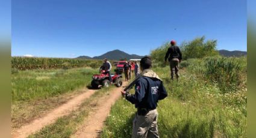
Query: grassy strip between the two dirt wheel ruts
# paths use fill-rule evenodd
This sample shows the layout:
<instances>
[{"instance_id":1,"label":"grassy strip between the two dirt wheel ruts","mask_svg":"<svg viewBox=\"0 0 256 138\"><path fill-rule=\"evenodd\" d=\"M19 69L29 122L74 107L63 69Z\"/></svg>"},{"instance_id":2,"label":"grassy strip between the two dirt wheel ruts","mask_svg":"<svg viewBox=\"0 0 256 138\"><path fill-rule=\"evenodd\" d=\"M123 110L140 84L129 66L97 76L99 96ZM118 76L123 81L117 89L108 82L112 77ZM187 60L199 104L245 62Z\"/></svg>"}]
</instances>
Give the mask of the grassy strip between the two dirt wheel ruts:
<instances>
[{"instance_id":1,"label":"grassy strip between the two dirt wheel ruts","mask_svg":"<svg viewBox=\"0 0 256 138\"><path fill-rule=\"evenodd\" d=\"M42 130L38 131L36 134L31 134L32 137L70 137L74 134L78 127L83 123L84 119L86 119L87 115L89 115L90 110L93 109L98 104L98 101L101 100L101 97L104 95L108 95L110 90L113 89L114 86L110 86L110 88L103 88L99 91L96 91L89 99L84 101L78 110L73 111L70 115L63 116L58 118L54 124L47 125L42 128Z\"/></svg>"}]
</instances>

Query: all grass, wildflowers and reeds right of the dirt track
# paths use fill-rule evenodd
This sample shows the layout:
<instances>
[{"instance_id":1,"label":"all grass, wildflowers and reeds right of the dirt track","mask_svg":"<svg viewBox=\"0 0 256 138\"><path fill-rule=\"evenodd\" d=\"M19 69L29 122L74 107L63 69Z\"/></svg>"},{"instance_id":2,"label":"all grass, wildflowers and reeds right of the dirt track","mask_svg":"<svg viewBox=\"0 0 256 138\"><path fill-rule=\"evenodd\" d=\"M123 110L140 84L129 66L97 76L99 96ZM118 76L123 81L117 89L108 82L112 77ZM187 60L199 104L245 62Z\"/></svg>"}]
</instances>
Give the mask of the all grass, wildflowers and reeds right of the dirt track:
<instances>
[{"instance_id":1,"label":"all grass, wildflowers and reeds right of the dirt track","mask_svg":"<svg viewBox=\"0 0 256 138\"><path fill-rule=\"evenodd\" d=\"M246 75L240 75L246 74L246 59L189 59L181 65L179 83L166 74L169 67L153 68L169 94L158 103L160 137L246 137ZM222 79L215 80L217 77ZM229 86L238 82L236 91L231 91ZM134 105L118 100L102 137L131 137L135 112Z\"/></svg>"}]
</instances>

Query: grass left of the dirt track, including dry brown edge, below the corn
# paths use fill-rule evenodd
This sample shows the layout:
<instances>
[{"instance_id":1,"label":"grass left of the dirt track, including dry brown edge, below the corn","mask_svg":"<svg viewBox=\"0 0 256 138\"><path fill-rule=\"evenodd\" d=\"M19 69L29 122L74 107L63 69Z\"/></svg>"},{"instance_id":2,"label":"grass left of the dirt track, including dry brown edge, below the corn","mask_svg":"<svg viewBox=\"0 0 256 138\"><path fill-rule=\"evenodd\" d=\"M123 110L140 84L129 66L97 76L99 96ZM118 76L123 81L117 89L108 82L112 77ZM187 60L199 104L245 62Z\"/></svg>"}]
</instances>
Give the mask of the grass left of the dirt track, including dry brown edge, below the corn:
<instances>
[{"instance_id":1,"label":"grass left of the dirt track, including dry brown edge, below the corn","mask_svg":"<svg viewBox=\"0 0 256 138\"><path fill-rule=\"evenodd\" d=\"M11 122L19 128L65 103L90 84L92 68L70 70L27 70L11 75Z\"/></svg>"}]
</instances>

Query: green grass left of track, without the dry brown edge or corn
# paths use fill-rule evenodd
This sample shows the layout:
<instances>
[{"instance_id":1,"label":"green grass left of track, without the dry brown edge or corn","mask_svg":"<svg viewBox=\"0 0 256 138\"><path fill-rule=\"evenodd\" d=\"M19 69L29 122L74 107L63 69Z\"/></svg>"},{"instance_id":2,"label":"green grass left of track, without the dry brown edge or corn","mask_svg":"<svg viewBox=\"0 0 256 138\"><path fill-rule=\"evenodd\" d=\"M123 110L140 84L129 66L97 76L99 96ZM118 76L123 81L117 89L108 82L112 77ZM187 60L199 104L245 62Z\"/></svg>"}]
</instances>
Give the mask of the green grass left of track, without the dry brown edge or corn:
<instances>
[{"instance_id":1,"label":"green grass left of track, without the dry brown edge or corn","mask_svg":"<svg viewBox=\"0 0 256 138\"><path fill-rule=\"evenodd\" d=\"M29 101L54 97L90 84L92 68L70 70L27 70L11 76L12 101Z\"/></svg>"}]
</instances>

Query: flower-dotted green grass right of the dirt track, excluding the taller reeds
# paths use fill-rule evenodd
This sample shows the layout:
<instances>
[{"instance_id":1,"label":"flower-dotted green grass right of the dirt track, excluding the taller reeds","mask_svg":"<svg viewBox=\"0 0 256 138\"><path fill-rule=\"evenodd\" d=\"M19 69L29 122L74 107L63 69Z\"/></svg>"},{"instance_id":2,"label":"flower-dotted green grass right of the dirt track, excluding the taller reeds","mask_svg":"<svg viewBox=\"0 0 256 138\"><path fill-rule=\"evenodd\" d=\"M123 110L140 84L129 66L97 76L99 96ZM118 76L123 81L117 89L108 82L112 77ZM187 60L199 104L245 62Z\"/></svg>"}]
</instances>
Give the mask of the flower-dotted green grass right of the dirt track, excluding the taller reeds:
<instances>
[{"instance_id":1,"label":"flower-dotted green grass right of the dirt track, excluding the taller reeds","mask_svg":"<svg viewBox=\"0 0 256 138\"><path fill-rule=\"evenodd\" d=\"M196 69L196 68L195 68ZM223 94L190 70L171 82L169 67L153 68L163 79L168 97L158 103L160 137L246 137L246 91ZM136 109L124 99L111 108L101 137L131 137Z\"/></svg>"}]
</instances>

